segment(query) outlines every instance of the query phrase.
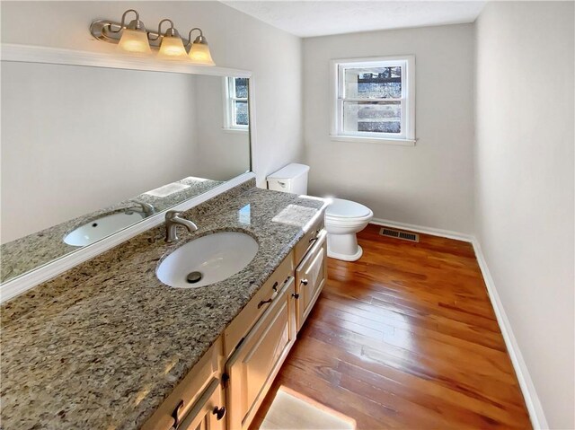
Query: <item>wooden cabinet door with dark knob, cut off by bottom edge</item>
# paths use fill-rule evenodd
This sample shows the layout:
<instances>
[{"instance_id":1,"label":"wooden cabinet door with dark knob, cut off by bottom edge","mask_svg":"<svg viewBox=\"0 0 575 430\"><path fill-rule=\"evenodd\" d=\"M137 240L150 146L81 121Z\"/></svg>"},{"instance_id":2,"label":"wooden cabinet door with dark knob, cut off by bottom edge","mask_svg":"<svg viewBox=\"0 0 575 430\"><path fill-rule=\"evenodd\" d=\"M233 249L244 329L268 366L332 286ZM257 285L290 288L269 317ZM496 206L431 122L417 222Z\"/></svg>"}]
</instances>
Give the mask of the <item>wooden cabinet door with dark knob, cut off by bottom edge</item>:
<instances>
[{"instance_id":1,"label":"wooden cabinet door with dark knob, cut off by bottom edge","mask_svg":"<svg viewBox=\"0 0 575 430\"><path fill-rule=\"evenodd\" d=\"M181 424L173 428L176 430L225 430L225 416L224 393L219 380L214 379L190 410L190 414L181 421Z\"/></svg>"}]
</instances>

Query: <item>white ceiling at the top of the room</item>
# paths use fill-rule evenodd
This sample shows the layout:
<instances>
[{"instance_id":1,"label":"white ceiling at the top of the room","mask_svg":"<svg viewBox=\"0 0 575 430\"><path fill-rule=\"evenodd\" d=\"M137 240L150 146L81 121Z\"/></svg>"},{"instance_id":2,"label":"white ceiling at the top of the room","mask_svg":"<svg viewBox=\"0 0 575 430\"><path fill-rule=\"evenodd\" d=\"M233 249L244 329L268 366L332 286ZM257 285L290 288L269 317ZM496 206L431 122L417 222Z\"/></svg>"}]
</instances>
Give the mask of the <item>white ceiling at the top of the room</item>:
<instances>
[{"instance_id":1,"label":"white ceiling at the top of the room","mask_svg":"<svg viewBox=\"0 0 575 430\"><path fill-rule=\"evenodd\" d=\"M473 22L486 2L227 0L223 3L281 30L308 38Z\"/></svg>"}]
</instances>

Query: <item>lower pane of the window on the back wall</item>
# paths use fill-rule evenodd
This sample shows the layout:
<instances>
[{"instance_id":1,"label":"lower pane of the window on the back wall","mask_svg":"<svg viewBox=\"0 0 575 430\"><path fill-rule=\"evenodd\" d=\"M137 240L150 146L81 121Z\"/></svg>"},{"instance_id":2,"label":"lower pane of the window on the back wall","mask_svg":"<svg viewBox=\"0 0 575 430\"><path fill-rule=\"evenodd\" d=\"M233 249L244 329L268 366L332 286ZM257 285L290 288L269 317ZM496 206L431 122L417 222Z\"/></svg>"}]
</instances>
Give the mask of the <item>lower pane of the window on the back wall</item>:
<instances>
[{"instance_id":1,"label":"lower pane of the window on the back wall","mask_svg":"<svg viewBox=\"0 0 575 430\"><path fill-rule=\"evenodd\" d=\"M401 133L400 101L344 101L343 130L348 133Z\"/></svg>"}]
</instances>

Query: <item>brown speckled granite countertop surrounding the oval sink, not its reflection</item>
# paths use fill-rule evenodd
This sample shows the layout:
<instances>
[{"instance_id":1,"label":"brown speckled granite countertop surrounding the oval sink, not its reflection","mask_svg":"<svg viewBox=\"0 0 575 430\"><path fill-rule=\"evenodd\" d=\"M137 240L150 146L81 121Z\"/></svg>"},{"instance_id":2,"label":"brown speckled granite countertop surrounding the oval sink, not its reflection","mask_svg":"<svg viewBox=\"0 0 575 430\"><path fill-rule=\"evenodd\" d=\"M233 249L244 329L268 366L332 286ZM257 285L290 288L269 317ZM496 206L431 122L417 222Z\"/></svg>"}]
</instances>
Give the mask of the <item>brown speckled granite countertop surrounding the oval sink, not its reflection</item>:
<instances>
[{"instance_id":1,"label":"brown speckled granite countertop surrounding the oval sink, not its reflection","mask_svg":"<svg viewBox=\"0 0 575 430\"><path fill-rule=\"evenodd\" d=\"M164 242L160 225L4 303L0 426L142 426L325 206L250 187L187 211L199 230L181 231L175 244ZM157 280L166 253L217 230L258 241L247 268L199 288Z\"/></svg>"}]
</instances>

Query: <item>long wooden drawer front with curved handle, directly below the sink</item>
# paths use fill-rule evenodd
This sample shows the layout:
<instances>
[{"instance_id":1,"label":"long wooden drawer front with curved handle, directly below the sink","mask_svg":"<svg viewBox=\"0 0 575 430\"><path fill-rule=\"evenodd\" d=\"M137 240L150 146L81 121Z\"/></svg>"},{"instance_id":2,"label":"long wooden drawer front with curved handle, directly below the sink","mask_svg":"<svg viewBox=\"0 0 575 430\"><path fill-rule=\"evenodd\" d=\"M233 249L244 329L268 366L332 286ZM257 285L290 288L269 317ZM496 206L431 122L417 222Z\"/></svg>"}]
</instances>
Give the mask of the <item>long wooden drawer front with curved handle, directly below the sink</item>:
<instances>
[{"instance_id":1,"label":"long wooden drawer front with curved handle, directly below the sink","mask_svg":"<svg viewBox=\"0 0 575 430\"><path fill-rule=\"evenodd\" d=\"M273 275L270 276L270 279L252 297L252 300L245 305L242 312L226 328L224 331L224 356L226 358L234 352L235 347L237 347L242 338L245 338L263 312L270 308L270 303L275 301L275 297L277 297L279 290L286 283L288 277L293 275L293 269L293 258L289 254ZM272 301L268 302L270 299Z\"/></svg>"}]
</instances>

